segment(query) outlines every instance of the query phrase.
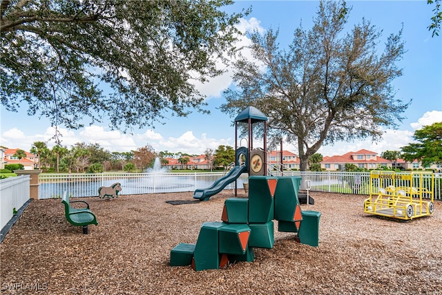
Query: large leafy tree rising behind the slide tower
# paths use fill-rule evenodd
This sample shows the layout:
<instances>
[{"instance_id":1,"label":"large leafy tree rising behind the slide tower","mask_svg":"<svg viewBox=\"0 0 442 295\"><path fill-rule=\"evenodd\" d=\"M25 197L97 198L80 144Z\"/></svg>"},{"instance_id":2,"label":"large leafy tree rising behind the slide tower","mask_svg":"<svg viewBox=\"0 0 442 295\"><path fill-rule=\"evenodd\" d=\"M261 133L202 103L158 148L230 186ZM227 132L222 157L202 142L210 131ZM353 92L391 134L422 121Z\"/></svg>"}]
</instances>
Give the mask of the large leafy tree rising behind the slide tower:
<instances>
[{"instance_id":1,"label":"large leafy tree rising behind the slide tower","mask_svg":"<svg viewBox=\"0 0 442 295\"><path fill-rule=\"evenodd\" d=\"M402 75L401 31L378 53L382 31L366 19L346 30L349 11L345 2L321 1L314 26L296 28L289 50L279 48L278 31L254 32L254 60L238 59L236 86L224 91L222 111L234 116L256 106L271 133L297 144L301 171L323 144L378 139L408 106L392 85Z\"/></svg>"}]
</instances>

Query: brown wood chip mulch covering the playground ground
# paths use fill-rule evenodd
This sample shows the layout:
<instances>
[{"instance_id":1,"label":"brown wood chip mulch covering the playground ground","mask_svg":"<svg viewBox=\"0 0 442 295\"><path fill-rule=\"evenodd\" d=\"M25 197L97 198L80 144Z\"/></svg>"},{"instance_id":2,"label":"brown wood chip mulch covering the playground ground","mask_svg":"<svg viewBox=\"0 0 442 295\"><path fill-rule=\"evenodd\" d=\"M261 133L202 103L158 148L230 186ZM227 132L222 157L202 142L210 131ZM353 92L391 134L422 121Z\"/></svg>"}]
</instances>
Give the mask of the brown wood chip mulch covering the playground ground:
<instances>
[{"instance_id":1,"label":"brown wood chip mulch covering the playground ground","mask_svg":"<svg viewBox=\"0 0 442 295\"><path fill-rule=\"evenodd\" d=\"M97 215L89 234L70 225L60 200L33 200L0 244L1 294L442 294L442 202L430 217L400 222L363 213L366 196L311 193L319 247L278 231L253 263L195 272L170 251L195 243L202 222L221 221L231 190L82 198ZM242 196L246 197L244 193Z\"/></svg>"}]
</instances>

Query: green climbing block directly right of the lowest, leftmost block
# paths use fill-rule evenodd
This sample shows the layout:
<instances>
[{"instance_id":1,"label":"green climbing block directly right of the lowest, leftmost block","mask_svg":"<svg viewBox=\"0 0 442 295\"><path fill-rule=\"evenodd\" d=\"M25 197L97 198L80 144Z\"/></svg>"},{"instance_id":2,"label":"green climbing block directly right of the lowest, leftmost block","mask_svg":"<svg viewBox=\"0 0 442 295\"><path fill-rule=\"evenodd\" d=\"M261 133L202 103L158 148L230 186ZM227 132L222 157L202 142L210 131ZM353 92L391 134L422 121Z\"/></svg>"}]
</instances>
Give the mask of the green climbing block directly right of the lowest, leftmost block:
<instances>
[{"instance_id":1,"label":"green climbing block directly right of the lowest, leftmost block","mask_svg":"<svg viewBox=\"0 0 442 295\"><path fill-rule=\"evenodd\" d=\"M195 251L193 251L193 268L196 271L220 268L218 230L223 226L222 222L204 222L202 224Z\"/></svg>"}]
</instances>

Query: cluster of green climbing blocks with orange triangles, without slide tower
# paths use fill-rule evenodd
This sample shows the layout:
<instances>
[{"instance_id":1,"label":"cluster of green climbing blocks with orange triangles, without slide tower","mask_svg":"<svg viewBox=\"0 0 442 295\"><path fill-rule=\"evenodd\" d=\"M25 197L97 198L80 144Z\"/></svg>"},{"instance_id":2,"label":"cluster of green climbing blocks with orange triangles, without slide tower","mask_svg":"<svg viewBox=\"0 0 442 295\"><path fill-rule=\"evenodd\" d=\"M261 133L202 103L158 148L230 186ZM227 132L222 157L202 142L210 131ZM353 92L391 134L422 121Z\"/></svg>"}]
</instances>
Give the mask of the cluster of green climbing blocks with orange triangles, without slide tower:
<instances>
[{"instance_id":1,"label":"cluster of green climbing blocks with orange triangles, without slide tower","mask_svg":"<svg viewBox=\"0 0 442 295\"><path fill-rule=\"evenodd\" d=\"M249 198L225 200L222 222L204 222L196 244L180 243L171 250L170 265L200 271L252 262L253 247L273 248L273 219L278 231L297 233L299 242L318 247L320 212L301 210L300 181L294 176L251 176Z\"/></svg>"}]
</instances>

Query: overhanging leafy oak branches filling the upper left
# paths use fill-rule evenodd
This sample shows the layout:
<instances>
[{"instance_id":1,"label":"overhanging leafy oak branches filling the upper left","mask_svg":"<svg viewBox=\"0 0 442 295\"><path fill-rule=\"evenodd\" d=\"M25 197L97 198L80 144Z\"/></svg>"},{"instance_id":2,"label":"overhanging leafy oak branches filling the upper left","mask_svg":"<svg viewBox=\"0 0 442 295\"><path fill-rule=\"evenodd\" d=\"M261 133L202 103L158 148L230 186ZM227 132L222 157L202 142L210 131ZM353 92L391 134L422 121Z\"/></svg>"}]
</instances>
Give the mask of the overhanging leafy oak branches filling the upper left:
<instances>
[{"instance_id":1,"label":"overhanging leafy oak branches filling the upper left","mask_svg":"<svg viewBox=\"0 0 442 295\"><path fill-rule=\"evenodd\" d=\"M243 14L222 10L231 3L1 0L1 104L73 129L204 111L191 82L219 75L215 59L234 50Z\"/></svg>"}]
</instances>

